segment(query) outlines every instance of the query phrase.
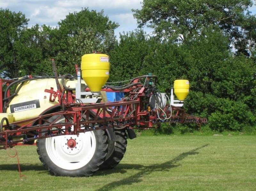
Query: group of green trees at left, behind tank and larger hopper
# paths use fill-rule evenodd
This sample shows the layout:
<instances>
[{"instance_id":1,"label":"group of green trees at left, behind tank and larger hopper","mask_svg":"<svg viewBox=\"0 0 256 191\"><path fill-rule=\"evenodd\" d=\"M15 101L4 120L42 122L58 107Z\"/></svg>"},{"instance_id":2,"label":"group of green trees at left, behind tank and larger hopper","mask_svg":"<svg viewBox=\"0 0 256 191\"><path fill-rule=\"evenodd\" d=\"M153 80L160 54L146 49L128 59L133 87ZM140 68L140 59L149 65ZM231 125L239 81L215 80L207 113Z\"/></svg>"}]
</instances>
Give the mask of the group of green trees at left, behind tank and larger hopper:
<instances>
[{"instance_id":1,"label":"group of green trees at left, behind tank and larger hopper","mask_svg":"<svg viewBox=\"0 0 256 191\"><path fill-rule=\"evenodd\" d=\"M38 25L27 28L28 19L21 12L0 10L0 72L15 78L25 74L52 74L51 58L58 73L75 72L81 56L98 50L109 54L117 43L112 22L103 11L69 13L56 28Z\"/></svg>"}]
</instances>

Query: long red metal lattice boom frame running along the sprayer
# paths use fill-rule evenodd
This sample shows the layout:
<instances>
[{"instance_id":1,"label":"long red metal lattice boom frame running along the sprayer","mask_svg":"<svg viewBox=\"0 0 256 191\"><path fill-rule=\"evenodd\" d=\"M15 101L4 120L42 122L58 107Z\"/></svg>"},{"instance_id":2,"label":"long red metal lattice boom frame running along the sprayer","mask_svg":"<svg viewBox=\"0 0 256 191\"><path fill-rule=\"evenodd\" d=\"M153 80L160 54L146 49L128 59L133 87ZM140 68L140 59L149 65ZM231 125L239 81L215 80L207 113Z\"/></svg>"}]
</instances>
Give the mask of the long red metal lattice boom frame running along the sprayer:
<instances>
[{"instance_id":1,"label":"long red metal lattice boom frame running along the sprayer","mask_svg":"<svg viewBox=\"0 0 256 191\"><path fill-rule=\"evenodd\" d=\"M104 90L104 89L103 89ZM109 91L109 89L106 89ZM75 134L99 129L133 129L133 128L155 128L160 125L161 121L157 118L154 111L144 111L142 109L142 98L145 96L144 88L141 88L137 94L136 100L123 100L111 103L96 103L82 106L80 103L65 104L64 111L59 111L36 118L30 118L12 124L7 124L4 131L0 132L0 137L5 139L0 141L0 149L6 149L17 145L19 140L8 140L8 136L20 137L23 135L32 135L33 138L28 138L26 141L43 139L52 136L60 136L64 134ZM165 106L164 111L169 114L170 107ZM49 122L48 119L52 116L64 116L65 123ZM94 118L91 118L94 116ZM55 120L57 121L57 120ZM172 122L194 122L204 123L205 119L196 118L188 115L183 109L172 106L172 116L168 121ZM36 125L33 125L36 124ZM13 127L18 127L13 130ZM61 129L61 130L60 130ZM61 132L60 132L60 131Z\"/></svg>"}]
</instances>

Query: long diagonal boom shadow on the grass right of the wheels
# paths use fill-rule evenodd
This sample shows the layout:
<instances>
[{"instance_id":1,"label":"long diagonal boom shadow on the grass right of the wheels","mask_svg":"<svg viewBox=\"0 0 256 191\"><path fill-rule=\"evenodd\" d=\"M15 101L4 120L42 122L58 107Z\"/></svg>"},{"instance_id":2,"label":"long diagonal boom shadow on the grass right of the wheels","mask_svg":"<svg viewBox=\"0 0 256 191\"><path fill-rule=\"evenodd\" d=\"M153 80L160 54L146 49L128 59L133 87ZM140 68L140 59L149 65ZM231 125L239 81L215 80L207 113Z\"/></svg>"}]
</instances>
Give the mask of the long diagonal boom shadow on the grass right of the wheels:
<instances>
[{"instance_id":1,"label":"long diagonal boom shadow on the grass right of the wheels","mask_svg":"<svg viewBox=\"0 0 256 191\"><path fill-rule=\"evenodd\" d=\"M202 148L207 147L207 146L208 146L208 144L203 145L201 147L198 147L196 149L190 150L188 152L181 153L178 157L176 157L176 158L174 158L170 161L167 161L165 163L162 163L162 164L153 164L153 165L149 165L149 166L136 165L136 164L135 165L134 164L118 164L118 166L117 166L118 168L116 167L115 170L112 169L112 170L109 170L109 171L98 171L95 174L96 176L101 176L103 174L111 174L111 173L125 173L126 170L128 170L128 169L140 170L140 172L138 172L138 173L136 173L136 174L134 174L134 175L132 175L128 178L111 182L111 183L101 187L98 190L112 190L112 189L115 189L115 188L117 188L119 186L122 186L122 185L131 185L133 183L141 182L142 180L140 178L142 176L150 174L152 172L170 171L172 168L179 166L179 165L176 164L177 162L179 162L182 159L188 157L189 155L198 154L198 152L196 152L197 150L202 149Z\"/></svg>"}]
</instances>

